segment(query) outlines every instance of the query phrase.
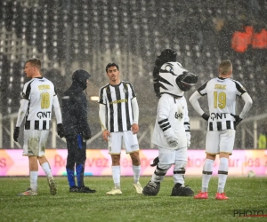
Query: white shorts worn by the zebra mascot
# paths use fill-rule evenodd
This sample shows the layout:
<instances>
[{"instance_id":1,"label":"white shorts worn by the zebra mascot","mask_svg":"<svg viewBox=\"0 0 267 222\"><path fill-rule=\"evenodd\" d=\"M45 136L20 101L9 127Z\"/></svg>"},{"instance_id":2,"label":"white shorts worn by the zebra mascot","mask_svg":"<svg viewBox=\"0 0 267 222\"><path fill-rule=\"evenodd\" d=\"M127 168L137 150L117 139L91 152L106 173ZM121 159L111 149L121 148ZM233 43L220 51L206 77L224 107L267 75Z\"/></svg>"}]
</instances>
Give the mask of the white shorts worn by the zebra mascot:
<instances>
[{"instance_id":1,"label":"white shorts worn by the zebra mascot","mask_svg":"<svg viewBox=\"0 0 267 222\"><path fill-rule=\"evenodd\" d=\"M175 161L187 162L187 147L180 149L166 149L158 147L158 159L162 164L174 164Z\"/></svg>"}]
</instances>

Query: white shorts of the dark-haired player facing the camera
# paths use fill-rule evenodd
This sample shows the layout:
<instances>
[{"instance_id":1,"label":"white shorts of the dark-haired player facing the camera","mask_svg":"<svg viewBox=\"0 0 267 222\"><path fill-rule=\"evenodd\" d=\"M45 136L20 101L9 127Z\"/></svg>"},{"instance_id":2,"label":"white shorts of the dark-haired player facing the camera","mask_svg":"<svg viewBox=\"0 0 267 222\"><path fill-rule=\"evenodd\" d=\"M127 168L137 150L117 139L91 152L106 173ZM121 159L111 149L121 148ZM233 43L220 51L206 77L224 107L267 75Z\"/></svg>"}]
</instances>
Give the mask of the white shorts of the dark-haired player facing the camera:
<instances>
[{"instance_id":1,"label":"white shorts of the dark-haired player facing the camera","mask_svg":"<svg viewBox=\"0 0 267 222\"><path fill-rule=\"evenodd\" d=\"M137 136L132 131L111 132L109 137L109 155L120 155L123 143L126 154L139 150Z\"/></svg>"}]
</instances>

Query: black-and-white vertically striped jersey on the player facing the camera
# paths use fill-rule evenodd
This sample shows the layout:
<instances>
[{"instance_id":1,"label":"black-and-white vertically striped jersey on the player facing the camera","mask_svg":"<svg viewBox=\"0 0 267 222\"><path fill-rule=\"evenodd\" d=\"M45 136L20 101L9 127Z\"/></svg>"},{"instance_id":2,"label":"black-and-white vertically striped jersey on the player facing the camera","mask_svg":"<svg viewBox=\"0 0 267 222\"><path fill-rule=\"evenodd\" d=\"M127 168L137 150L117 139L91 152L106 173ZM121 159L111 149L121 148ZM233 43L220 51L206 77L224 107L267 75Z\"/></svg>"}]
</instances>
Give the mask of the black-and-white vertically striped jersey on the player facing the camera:
<instances>
[{"instance_id":1,"label":"black-and-white vertically striped jersey on the player facing the camera","mask_svg":"<svg viewBox=\"0 0 267 222\"><path fill-rule=\"evenodd\" d=\"M128 82L107 84L101 88L98 102L107 108L110 132L131 131L134 119L131 100L134 98L134 87Z\"/></svg>"}]
</instances>

